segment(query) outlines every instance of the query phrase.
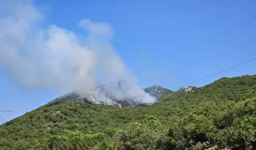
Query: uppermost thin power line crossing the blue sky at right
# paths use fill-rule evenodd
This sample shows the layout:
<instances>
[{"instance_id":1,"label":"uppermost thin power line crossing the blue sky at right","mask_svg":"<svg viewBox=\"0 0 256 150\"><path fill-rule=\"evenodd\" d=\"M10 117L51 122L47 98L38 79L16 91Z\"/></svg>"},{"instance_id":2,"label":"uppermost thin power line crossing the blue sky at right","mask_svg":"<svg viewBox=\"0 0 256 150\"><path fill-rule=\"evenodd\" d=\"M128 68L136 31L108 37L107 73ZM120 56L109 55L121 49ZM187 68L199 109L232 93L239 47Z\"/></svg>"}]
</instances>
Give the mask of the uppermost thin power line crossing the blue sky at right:
<instances>
[{"instance_id":1,"label":"uppermost thin power line crossing the blue sky at right","mask_svg":"<svg viewBox=\"0 0 256 150\"><path fill-rule=\"evenodd\" d=\"M249 21L251 21L251 20L254 20L255 18L256 18L256 16L254 16L254 17L252 17L252 18L250 18L250 19L248 19L248 20L246 20L246 21L244 21L244 22L241 22L240 24L237 24L236 26L233 26L233 27L231 27L231 28L228 28L227 30L224 30L224 31L222 31L222 32L220 32L220 33L218 33L218 34L215 34L214 36L211 36L210 38L207 38L207 39L205 39L205 40L202 40L201 42L198 42L198 43L196 43L196 44L194 44L194 45L192 45L192 46L190 46L190 47L188 47L188 48L185 48L185 49L183 49L183 50L180 50L180 51L176 52L176 53L173 54L173 55L170 55L170 56L168 56L168 57L166 57L166 58L163 58L162 60L158 60L158 61L156 61L156 62L154 62L154 63L152 63L152 64L149 64L148 66L145 66L145 67L143 67L143 68L140 68L140 69L138 69L138 70L135 70L135 72L140 71L140 70L144 70L144 69L146 69L146 68L148 68L148 67L150 67L150 66L152 66L152 65L154 65L154 64L157 64L157 63L159 63L159 62L162 62L162 61L164 61L164 60L166 60L166 59L171 58L172 56L175 56L175 55L177 55L177 54L180 54L181 52L184 52L184 51L186 51L186 50L189 50L190 48L193 48L193 47L198 46L198 45L200 45L200 44L202 44L202 43L204 43L204 42L207 42L208 40L211 40L211 39L213 39L213 38L215 38L215 37L217 37L217 36L220 36L221 34L224 34L225 32L228 32L228 31L230 31L230 30L232 30L232 29L234 29L234 28L236 28L236 27L238 27L238 26L241 26L242 24L245 24L245 23L247 23L247 22L249 22Z\"/></svg>"}]
</instances>

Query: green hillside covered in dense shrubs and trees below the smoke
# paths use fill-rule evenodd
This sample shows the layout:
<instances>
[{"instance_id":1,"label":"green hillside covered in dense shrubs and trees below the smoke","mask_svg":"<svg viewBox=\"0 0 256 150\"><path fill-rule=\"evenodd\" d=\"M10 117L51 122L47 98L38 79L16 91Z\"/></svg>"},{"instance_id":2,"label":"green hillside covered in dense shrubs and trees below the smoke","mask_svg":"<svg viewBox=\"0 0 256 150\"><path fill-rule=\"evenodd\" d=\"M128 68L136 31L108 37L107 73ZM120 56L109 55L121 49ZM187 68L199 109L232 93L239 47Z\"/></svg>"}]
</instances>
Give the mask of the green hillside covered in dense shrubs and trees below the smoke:
<instances>
[{"instance_id":1,"label":"green hillside covered in dense shrubs and trees below the smoke","mask_svg":"<svg viewBox=\"0 0 256 150\"><path fill-rule=\"evenodd\" d=\"M256 141L256 75L221 78L162 103L118 108L69 101L0 126L0 150L245 149ZM207 144L203 144L207 143Z\"/></svg>"}]
</instances>

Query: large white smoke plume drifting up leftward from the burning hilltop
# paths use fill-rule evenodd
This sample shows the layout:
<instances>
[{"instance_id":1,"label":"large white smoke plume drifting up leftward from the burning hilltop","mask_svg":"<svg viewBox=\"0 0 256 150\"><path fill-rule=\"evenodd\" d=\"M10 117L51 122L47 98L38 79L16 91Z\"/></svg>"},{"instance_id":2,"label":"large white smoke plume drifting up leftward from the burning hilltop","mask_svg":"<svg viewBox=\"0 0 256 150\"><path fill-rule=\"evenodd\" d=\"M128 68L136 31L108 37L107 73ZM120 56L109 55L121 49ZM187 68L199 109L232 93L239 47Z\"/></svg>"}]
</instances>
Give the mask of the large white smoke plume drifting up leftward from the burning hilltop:
<instances>
[{"instance_id":1,"label":"large white smoke plume drifting up leftward from the burning hilltop","mask_svg":"<svg viewBox=\"0 0 256 150\"><path fill-rule=\"evenodd\" d=\"M88 32L81 38L55 24L41 28L44 14L30 1L0 5L5 8L0 16L0 68L21 88L78 91L91 101L97 98L110 104L110 99L93 90L94 83L124 80L133 87L126 97L155 102L110 44L114 34L109 24L81 20L78 28ZM117 91L112 94L124 97Z\"/></svg>"}]
</instances>

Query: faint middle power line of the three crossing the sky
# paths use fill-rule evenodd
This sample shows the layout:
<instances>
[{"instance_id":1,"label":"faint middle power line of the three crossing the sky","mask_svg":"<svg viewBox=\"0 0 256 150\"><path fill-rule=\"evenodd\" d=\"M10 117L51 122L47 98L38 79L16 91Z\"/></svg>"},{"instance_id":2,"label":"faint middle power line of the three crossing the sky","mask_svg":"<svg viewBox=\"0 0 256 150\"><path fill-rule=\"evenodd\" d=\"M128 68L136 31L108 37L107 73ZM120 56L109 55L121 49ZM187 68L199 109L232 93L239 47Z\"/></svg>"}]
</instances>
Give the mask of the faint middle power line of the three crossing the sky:
<instances>
[{"instance_id":1,"label":"faint middle power line of the three crossing the sky","mask_svg":"<svg viewBox=\"0 0 256 150\"><path fill-rule=\"evenodd\" d=\"M208 60L208 59L210 59L210 58L214 58L214 57L216 57L216 56L219 56L219 55L221 55L221 54L224 54L225 52L228 52L228 51L230 51L230 50L234 50L234 49L236 49L236 48L240 48L240 47L242 47L242 46L245 46L245 45L250 44L250 43L255 42L255 41L256 41L256 39L251 40L251 41L246 42L246 43L243 43L243 44L240 44L239 46L236 46L236 47L231 48L231 49L228 49L228 50L224 50L224 51L222 51L222 52L220 52L220 53L218 53L218 54L212 55L212 56L210 56L210 57L208 57L208 58L204 58L204 59L199 60L199 61L197 61L197 62L193 62L193 64L194 64L194 63L203 62L203 61ZM188 65L183 66L183 67L180 67L180 68L177 68L177 69L175 69L174 71L179 71L179 70L182 70L182 69L187 68L187 67L188 67ZM160 74L160 75L158 75L158 77L159 77L159 76L165 76L165 75L170 74L170 73L172 73L172 72L174 72L174 71L170 71L170 72L167 72L167 73L164 73L164 74ZM143 82L147 82L147 81L149 81L149 80L146 80L146 81L143 81Z\"/></svg>"}]
</instances>

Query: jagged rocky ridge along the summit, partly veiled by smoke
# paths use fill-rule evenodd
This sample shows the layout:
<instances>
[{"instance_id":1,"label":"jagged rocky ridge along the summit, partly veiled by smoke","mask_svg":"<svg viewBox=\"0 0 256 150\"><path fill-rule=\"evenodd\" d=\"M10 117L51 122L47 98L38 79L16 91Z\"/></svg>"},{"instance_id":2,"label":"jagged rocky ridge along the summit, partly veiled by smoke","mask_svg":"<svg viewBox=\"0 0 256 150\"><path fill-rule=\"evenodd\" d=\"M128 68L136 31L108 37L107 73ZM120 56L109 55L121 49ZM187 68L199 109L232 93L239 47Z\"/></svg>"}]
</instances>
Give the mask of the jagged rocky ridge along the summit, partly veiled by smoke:
<instances>
[{"instance_id":1,"label":"jagged rocky ridge along the summit, partly veiled by smoke","mask_svg":"<svg viewBox=\"0 0 256 150\"><path fill-rule=\"evenodd\" d=\"M136 97L131 97L129 95L129 92L133 90L132 86L127 84L126 82L119 80L118 82L110 82L108 84L102 84L101 82L96 82L94 84L95 88L94 91L96 93L94 94L100 94L103 96L101 98L97 98L97 96L92 96L92 100L88 100L88 98L83 98L80 96L79 92L70 92L68 94L65 94L63 96L60 96L55 101L56 103L65 102L68 100L82 100L84 102L92 102L95 104L103 104L103 105L113 105L116 107L127 107L127 108L136 108L136 107L144 107L149 106L153 103L147 103L144 102L144 99L138 99ZM175 98L182 96L184 94L187 94L189 92L193 92L196 90L196 87L194 86L187 86L184 88L180 88L177 91L172 91L167 88L163 88L160 85L154 85L150 86L149 88L145 88L144 91L148 96L156 98L156 102L159 98L166 95L173 95ZM120 95L120 98L118 96ZM105 99L108 99L108 102L105 101Z\"/></svg>"}]
</instances>

